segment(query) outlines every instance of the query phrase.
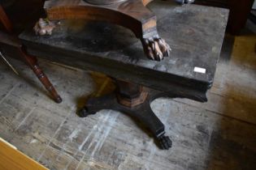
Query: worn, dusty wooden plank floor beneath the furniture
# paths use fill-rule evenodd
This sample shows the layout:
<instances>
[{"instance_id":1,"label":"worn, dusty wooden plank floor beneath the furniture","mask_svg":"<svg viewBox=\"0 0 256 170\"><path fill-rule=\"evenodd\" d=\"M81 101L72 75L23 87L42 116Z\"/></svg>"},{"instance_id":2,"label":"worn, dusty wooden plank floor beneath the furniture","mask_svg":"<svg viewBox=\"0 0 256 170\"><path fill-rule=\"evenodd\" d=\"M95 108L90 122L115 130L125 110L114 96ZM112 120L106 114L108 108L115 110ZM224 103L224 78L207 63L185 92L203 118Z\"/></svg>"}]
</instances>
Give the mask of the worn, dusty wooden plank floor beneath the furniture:
<instances>
[{"instance_id":1,"label":"worn, dusty wooden plank floor beneath the furniture","mask_svg":"<svg viewBox=\"0 0 256 170\"><path fill-rule=\"evenodd\" d=\"M62 104L48 98L23 63L12 61L18 77L1 62L0 136L50 169L256 169L255 44L249 32L228 36L208 103L154 101L173 141L169 151L158 150L134 121L113 110L77 117L93 79L45 61L40 64Z\"/></svg>"}]
</instances>

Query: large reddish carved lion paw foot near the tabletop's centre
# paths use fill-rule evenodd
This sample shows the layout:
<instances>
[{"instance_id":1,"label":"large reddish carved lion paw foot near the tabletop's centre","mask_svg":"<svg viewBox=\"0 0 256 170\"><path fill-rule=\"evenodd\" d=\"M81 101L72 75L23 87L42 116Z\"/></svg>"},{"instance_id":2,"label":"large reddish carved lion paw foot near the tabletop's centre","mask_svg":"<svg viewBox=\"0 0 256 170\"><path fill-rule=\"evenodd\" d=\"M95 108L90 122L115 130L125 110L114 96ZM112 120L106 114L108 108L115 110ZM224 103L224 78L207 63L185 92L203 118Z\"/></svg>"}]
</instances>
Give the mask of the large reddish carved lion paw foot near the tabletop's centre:
<instances>
[{"instance_id":1,"label":"large reddish carved lion paw foot near the tabletop's centre","mask_svg":"<svg viewBox=\"0 0 256 170\"><path fill-rule=\"evenodd\" d=\"M170 46L160 37L147 38L141 40L144 52L151 60L161 61L163 57L169 57Z\"/></svg>"}]
</instances>

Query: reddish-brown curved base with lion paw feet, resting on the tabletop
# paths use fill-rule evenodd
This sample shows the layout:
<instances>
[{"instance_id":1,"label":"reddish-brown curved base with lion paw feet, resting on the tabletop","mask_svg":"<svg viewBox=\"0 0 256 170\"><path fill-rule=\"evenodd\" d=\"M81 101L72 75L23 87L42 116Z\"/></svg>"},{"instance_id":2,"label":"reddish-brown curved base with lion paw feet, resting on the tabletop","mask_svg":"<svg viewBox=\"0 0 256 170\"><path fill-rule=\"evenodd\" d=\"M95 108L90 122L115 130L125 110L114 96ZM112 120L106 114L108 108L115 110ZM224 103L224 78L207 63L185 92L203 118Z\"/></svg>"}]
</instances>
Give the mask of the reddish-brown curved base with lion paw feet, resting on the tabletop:
<instances>
[{"instance_id":1,"label":"reddish-brown curved base with lion paw feet, resting on the tabletop","mask_svg":"<svg viewBox=\"0 0 256 170\"><path fill-rule=\"evenodd\" d=\"M90 1L99 4L99 1ZM171 48L160 38L156 16L145 6L151 0L112 1L111 4L93 5L84 0L50 0L45 3L48 19L89 19L116 23L132 32L141 40L144 52L152 60L160 61L170 56ZM42 24L46 25L47 23ZM36 32L44 30L38 23ZM43 31L45 32L45 31ZM47 32L46 32L47 33ZM49 33L51 34L51 32Z\"/></svg>"}]
</instances>

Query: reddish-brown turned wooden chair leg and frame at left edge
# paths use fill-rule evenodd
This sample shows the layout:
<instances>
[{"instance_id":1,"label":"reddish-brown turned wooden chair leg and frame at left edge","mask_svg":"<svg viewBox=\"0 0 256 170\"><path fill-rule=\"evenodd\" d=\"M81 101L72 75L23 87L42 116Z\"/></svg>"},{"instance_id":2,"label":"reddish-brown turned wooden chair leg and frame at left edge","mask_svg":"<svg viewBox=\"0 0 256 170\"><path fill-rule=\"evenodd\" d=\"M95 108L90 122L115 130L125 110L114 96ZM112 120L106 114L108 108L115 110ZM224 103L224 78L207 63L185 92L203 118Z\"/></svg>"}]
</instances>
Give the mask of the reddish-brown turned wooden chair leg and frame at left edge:
<instances>
[{"instance_id":1,"label":"reddish-brown turned wooden chair leg and frame at left edge","mask_svg":"<svg viewBox=\"0 0 256 170\"><path fill-rule=\"evenodd\" d=\"M12 24L10 19L8 19L5 11L3 11L2 6L0 5L0 21L7 29L7 32L10 34L12 32ZM7 46L7 50L13 49L21 57L24 62L28 64L28 66L33 70L33 72L37 75L37 78L41 81L41 83L46 87L46 90L50 92L50 96L56 103L61 103L62 99L59 96L58 92L55 90L54 86L50 83L50 80L47 78L46 74L43 73L40 66L37 64L37 57L33 57L25 53L20 40L16 36L7 35L7 33L0 31L0 45ZM11 50L9 50L11 53Z\"/></svg>"}]
</instances>

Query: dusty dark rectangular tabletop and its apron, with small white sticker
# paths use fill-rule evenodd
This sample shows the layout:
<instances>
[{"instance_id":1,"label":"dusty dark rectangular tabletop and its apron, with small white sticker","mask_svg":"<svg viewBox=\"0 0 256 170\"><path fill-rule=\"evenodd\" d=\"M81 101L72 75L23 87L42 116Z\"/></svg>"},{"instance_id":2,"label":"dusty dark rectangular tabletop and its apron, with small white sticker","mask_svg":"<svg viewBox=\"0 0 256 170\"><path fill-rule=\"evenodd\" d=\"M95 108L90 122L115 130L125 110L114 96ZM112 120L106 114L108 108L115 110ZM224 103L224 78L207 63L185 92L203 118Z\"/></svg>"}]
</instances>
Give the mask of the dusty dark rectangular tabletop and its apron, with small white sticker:
<instances>
[{"instance_id":1,"label":"dusty dark rectangular tabletop and its apron, with small white sticker","mask_svg":"<svg viewBox=\"0 0 256 170\"><path fill-rule=\"evenodd\" d=\"M150 8L158 11L160 33L168 42L176 42L171 57L162 62L145 58L132 32L105 22L63 21L61 28L56 28L52 36L35 36L32 30L28 30L20 35L20 39L33 56L80 69L102 71L116 79L159 91L176 91L189 99L206 101L206 91L213 82L219 58L215 51L221 48L219 40L223 39L228 11L222 9L218 14L215 8L202 10L206 6L184 7L169 2L157 4L161 10ZM193 15L188 15L190 13ZM203 23L203 20L209 22ZM197 27L198 24L202 24L201 28ZM97 43L92 45L92 42ZM206 74L193 71L196 66L206 68Z\"/></svg>"}]
</instances>

